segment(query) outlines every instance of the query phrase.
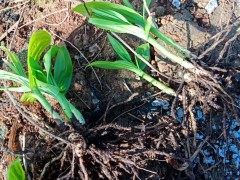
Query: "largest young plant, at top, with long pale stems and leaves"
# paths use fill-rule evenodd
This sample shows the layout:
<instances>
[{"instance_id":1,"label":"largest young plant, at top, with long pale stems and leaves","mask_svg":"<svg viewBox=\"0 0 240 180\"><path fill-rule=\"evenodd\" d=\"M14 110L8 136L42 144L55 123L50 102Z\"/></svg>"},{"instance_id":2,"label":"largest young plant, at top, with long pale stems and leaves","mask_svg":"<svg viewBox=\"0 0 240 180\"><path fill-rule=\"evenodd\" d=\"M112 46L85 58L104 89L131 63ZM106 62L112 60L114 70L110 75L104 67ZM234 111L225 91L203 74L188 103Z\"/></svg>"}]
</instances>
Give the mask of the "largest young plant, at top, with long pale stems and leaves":
<instances>
[{"instance_id":1,"label":"largest young plant, at top, with long pale stems and leaves","mask_svg":"<svg viewBox=\"0 0 240 180\"><path fill-rule=\"evenodd\" d=\"M166 44L172 46L183 56L195 57L188 50L184 49L171 38L161 33L154 25L151 15L149 18L146 18L145 15L142 16L132 9L129 1L126 0L125 4L128 7L109 2L86 2L75 7L73 11L89 17L89 22L99 28L117 33L135 35L153 45L160 54L166 56L171 61L178 63L197 75L205 75L205 71L202 71L191 62L170 52L166 47L154 39L152 35L155 35ZM149 1L148 3L144 3L144 9L147 8L146 4L148 5Z\"/></svg>"}]
</instances>

